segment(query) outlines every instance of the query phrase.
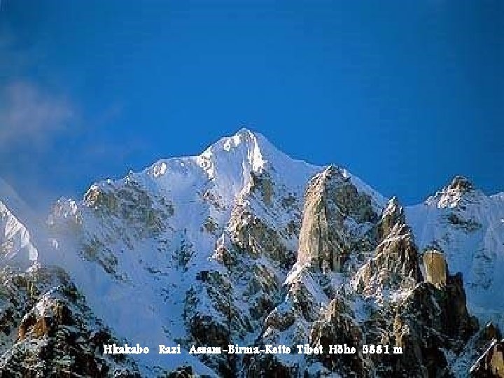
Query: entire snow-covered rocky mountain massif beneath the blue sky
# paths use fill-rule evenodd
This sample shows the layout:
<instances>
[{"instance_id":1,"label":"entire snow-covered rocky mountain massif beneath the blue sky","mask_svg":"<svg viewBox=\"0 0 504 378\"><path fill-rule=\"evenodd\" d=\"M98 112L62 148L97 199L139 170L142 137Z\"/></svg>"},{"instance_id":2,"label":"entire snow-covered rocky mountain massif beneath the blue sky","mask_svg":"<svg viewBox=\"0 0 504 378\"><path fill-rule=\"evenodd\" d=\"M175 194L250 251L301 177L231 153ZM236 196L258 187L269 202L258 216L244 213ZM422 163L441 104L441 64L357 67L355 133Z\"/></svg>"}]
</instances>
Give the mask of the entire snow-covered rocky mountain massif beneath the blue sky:
<instances>
[{"instance_id":1,"label":"entire snow-covered rocky mountain massif beneath the blue sky","mask_svg":"<svg viewBox=\"0 0 504 378\"><path fill-rule=\"evenodd\" d=\"M33 226L36 241L2 205L0 370L82 374L85 353L86 376L465 377L503 325L503 210L503 195L460 177L404 209L346 169L293 160L248 130L60 199ZM111 340L151 353L106 358L100 343ZM344 342L358 352L189 353ZM363 354L371 343L405 352ZM48 351L38 374L34 356Z\"/></svg>"}]
</instances>

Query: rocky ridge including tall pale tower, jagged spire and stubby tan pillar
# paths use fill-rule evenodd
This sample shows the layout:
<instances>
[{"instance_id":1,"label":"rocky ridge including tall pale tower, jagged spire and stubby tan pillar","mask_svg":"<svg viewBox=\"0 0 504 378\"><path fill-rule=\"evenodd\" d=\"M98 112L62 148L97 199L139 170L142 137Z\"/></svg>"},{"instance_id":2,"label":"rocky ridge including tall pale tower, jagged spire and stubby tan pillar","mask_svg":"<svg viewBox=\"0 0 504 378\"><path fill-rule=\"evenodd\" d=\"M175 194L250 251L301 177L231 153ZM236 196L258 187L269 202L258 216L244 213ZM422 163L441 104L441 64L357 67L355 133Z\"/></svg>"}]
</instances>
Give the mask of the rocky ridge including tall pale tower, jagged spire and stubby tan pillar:
<instances>
[{"instance_id":1,"label":"rocky ridge including tall pale tower, jagged spire and stubby tan pillar","mask_svg":"<svg viewBox=\"0 0 504 378\"><path fill-rule=\"evenodd\" d=\"M347 184L337 172L328 169L309 183L296 270L287 279L284 301L267 317L260 344L282 340L292 347L322 345L326 351L329 345L346 344L355 347L356 353L322 353L297 360L253 356L246 369L264 371L268 366L281 366L281 371L305 377L335 372L342 377L451 374L453 356L462 351L477 328L468 314L461 275L449 276L442 254L430 251L425 254L428 282L423 282L419 253L396 198L388 202L381 218L374 218L371 227L359 235L361 242L356 242L358 234L346 227L351 212L338 206L345 200L328 194L334 192L327 188ZM345 193L346 200L357 198L349 194L352 190L337 193ZM362 220L352 219L355 223L355 219ZM372 219L365 218L368 224ZM357 247L353 250L356 255L350 265L339 265L335 271L330 269L337 266L330 265L330 251L342 251L341 246L349 251ZM355 274L355 257L363 253L361 248L370 247L374 248L372 257ZM344 282L344 277L352 284L337 283ZM397 346L402 353L364 356L363 344ZM449 354L445 355L445 350Z\"/></svg>"}]
</instances>

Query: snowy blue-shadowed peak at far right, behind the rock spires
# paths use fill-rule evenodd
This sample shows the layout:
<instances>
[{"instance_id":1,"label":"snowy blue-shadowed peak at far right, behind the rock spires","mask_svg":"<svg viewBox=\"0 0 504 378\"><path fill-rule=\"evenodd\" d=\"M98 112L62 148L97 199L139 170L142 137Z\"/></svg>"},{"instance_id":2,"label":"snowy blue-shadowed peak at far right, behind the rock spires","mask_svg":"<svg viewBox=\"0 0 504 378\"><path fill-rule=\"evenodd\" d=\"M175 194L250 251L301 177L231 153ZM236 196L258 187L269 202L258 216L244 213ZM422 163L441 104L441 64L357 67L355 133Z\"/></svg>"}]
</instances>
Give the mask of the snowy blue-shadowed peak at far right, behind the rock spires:
<instances>
[{"instance_id":1,"label":"snowy blue-shadowed peak at far right, behind the rock spires","mask_svg":"<svg viewBox=\"0 0 504 378\"><path fill-rule=\"evenodd\" d=\"M456 179L454 179L456 181ZM463 273L468 307L480 321L504 325L504 196L454 188L406 209L420 251L444 251L449 270Z\"/></svg>"}]
</instances>

